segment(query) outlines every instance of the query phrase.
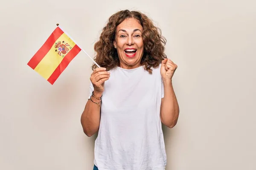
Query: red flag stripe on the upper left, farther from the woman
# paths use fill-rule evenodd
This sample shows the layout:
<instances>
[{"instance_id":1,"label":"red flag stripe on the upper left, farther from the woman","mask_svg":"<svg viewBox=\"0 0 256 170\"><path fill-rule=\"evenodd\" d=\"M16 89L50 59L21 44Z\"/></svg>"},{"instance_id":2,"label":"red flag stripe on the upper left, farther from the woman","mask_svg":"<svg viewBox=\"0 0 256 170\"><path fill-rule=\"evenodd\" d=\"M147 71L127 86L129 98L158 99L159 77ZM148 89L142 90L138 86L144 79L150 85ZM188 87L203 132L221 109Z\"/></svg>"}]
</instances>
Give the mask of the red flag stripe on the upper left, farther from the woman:
<instances>
[{"instance_id":1,"label":"red flag stripe on the upper left, farther from the woman","mask_svg":"<svg viewBox=\"0 0 256 170\"><path fill-rule=\"evenodd\" d=\"M44 58L44 56L48 53L48 51L52 48L52 45L58 40L58 38L63 34L64 32L61 30L61 28L57 27L52 32L52 34L49 36L49 38L44 42L42 47L35 53L35 55L29 60L28 64L29 67L31 67L33 70L35 67L41 62L41 60Z\"/></svg>"}]
</instances>

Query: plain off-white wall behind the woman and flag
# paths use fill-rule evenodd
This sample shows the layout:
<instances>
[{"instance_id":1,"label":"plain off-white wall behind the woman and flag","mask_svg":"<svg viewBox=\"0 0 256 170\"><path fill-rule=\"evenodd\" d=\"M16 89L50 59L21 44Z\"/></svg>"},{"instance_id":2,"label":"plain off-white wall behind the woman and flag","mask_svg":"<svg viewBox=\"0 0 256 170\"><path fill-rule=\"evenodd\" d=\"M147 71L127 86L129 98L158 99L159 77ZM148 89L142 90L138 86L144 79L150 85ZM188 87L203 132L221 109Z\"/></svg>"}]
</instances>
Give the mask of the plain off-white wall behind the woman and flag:
<instances>
[{"instance_id":1,"label":"plain off-white wall behind the woman and flag","mask_svg":"<svg viewBox=\"0 0 256 170\"><path fill-rule=\"evenodd\" d=\"M166 170L256 170L255 0L1 0L0 169L93 169L96 135L80 123L92 61L81 51L54 85L27 62L56 23L94 57L101 29L122 9L147 14L178 65Z\"/></svg>"}]
</instances>

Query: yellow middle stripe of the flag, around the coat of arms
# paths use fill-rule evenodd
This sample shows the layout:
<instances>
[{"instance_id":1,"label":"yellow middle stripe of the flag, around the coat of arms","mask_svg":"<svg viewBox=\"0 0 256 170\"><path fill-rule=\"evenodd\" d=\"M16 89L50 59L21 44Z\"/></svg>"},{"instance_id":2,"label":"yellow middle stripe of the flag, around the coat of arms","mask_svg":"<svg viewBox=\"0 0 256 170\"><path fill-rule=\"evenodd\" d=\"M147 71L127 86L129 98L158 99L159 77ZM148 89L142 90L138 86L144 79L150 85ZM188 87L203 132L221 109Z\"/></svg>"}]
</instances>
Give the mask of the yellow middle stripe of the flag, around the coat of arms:
<instances>
[{"instance_id":1,"label":"yellow middle stripe of the flag, around the coat of arms","mask_svg":"<svg viewBox=\"0 0 256 170\"><path fill-rule=\"evenodd\" d=\"M67 34L63 33L56 42L65 42L69 44L71 47L74 47L76 45L75 42L73 42ZM71 50L68 46L66 47ZM49 50L49 52L44 56L44 58L39 62L39 64L35 67L35 71L37 71L42 77L45 79L48 79L52 73L55 71L55 69L58 67L58 65L63 60L63 54L61 56L55 51L55 43L52 45L52 48ZM67 51L67 53L69 52ZM64 54L67 55L67 54Z\"/></svg>"}]
</instances>

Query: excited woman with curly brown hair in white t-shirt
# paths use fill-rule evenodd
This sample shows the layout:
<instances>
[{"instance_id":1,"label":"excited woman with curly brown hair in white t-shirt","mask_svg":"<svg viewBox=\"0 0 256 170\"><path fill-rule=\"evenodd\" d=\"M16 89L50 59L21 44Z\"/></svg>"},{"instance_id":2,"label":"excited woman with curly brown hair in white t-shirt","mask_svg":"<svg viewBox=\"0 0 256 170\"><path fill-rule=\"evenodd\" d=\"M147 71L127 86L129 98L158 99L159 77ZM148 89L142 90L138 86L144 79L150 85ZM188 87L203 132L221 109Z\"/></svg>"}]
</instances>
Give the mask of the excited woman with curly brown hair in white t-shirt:
<instances>
[{"instance_id":1,"label":"excited woman with curly brown hair in white t-shirt","mask_svg":"<svg viewBox=\"0 0 256 170\"><path fill-rule=\"evenodd\" d=\"M177 65L164 54L166 40L138 11L113 14L95 44L90 94L81 115L95 141L94 169L164 170L161 122L174 127L179 106L172 87Z\"/></svg>"}]
</instances>

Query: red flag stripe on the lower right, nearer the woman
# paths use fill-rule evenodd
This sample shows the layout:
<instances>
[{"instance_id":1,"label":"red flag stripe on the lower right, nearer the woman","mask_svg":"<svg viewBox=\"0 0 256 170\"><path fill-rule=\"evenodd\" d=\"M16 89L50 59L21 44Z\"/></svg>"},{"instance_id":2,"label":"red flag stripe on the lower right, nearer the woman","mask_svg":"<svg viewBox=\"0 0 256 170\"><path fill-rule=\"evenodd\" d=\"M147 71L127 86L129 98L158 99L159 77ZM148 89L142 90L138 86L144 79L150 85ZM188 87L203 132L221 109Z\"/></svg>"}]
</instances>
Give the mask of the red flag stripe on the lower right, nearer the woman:
<instances>
[{"instance_id":1,"label":"red flag stripe on the lower right, nearer the woman","mask_svg":"<svg viewBox=\"0 0 256 170\"><path fill-rule=\"evenodd\" d=\"M58 67L53 71L52 75L47 80L52 85L58 79L58 77L61 75L61 73L67 68L67 65L72 61L73 58L76 57L76 55L81 51L81 48L79 48L77 45L75 45L68 53L67 55L62 59L61 63L58 65Z\"/></svg>"}]
</instances>

